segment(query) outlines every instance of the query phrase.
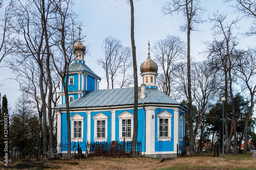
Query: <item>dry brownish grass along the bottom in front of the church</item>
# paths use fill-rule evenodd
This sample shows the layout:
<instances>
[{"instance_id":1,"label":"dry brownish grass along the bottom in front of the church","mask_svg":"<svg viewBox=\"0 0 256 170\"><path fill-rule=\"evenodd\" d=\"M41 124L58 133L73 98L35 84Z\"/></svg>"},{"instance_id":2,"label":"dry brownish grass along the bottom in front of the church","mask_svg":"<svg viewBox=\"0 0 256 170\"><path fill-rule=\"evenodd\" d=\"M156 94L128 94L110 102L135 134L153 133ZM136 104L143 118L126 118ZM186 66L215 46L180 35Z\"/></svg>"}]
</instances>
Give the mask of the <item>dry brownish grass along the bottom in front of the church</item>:
<instances>
[{"instance_id":1,"label":"dry brownish grass along the bottom in front of the church","mask_svg":"<svg viewBox=\"0 0 256 170\"><path fill-rule=\"evenodd\" d=\"M238 157L228 155L224 157L183 157L160 160L136 157L136 158L106 158L96 157L93 161L80 160L77 165L66 164L64 161L57 161L61 169L256 169L256 158L249 154L242 154ZM54 164L55 164L54 163ZM56 165L56 164L55 164Z\"/></svg>"}]
</instances>

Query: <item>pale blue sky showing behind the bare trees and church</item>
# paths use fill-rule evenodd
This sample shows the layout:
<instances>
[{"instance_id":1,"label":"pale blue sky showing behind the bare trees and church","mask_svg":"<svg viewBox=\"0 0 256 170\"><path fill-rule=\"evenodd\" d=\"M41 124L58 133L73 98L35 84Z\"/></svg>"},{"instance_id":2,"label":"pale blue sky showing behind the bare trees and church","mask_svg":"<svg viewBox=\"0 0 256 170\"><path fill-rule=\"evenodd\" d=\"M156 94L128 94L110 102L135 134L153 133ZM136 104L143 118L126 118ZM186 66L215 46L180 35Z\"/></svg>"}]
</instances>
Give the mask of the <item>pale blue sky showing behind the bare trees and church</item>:
<instances>
[{"instance_id":1,"label":"pale blue sky showing behind the bare trees and church","mask_svg":"<svg viewBox=\"0 0 256 170\"><path fill-rule=\"evenodd\" d=\"M156 40L160 40L169 34L178 35L186 42L186 33L179 31L179 27L184 23L183 16L163 16L161 7L165 2L166 0L140 0L134 4L135 45L138 68L147 58L148 40L151 45L154 45ZM204 0L202 2L206 10L202 16L205 20L207 20L208 15L217 10L228 13L230 18L235 16L232 13L233 9L228 4L224 4L222 0ZM85 56L86 64L102 78L99 88L105 89L104 70L97 64L97 59L104 57L101 45L105 37L113 36L121 40L124 46L131 46L130 5L123 0L78 0L75 1L73 10L79 14L79 19L82 20L81 33L83 36L86 35L83 39L83 44L90 44L90 55ZM201 54L205 48L203 42L212 40L212 25L212 23L206 21L199 25L201 31L191 32L191 56L196 61L205 59L203 54ZM239 32L243 32L242 30L248 28L248 23L240 22L239 27ZM241 48L248 48L251 45L256 46L255 37L241 36L239 44ZM151 58L154 60L153 53L151 53ZM19 91L19 84L10 78L15 78L15 74L10 69L4 67L4 62L0 63L0 84L2 84L0 92L2 96L4 94L7 95L9 107L14 109L15 101L22 92ZM142 83L140 75L138 75L138 81L140 85Z\"/></svg>"}]
</instances>

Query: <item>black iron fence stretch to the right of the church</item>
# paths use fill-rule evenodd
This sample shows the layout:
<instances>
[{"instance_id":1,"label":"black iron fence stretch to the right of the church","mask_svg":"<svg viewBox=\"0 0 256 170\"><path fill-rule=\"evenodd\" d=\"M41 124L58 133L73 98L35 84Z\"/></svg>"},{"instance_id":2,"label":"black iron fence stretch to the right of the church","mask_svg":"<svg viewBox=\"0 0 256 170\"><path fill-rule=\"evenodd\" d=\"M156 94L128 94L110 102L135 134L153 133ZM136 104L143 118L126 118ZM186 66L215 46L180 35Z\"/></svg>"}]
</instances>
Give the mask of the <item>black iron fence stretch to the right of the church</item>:
<instances>
[{"instance_id":1,"label":"black iron fence stretch to the right of the church","mask_svg":"<svg viewBox=\"0 0 256 170\"><path fill-rule=\"evenodd\" d=\"M177 144L177 157L181 156L209 156L219 157L219 147L180 147Z\"/></svg>"}]
</instances>

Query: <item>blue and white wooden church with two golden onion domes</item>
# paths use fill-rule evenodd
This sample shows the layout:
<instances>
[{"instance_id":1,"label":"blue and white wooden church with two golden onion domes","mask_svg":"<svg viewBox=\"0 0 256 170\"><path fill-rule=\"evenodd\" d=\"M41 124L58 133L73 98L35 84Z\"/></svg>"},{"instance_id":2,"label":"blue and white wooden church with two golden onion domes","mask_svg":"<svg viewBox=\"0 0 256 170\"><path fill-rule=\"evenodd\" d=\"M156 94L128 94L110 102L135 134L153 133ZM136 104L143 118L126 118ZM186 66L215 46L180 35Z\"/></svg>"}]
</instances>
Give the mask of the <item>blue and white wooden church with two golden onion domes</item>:
<instances>
[{"instance_id":1,"label":"blue and white wooden church with two golden onion domes","mask_svg":"<svg viewBox=\"0 0 256 170\"><path fill-rule=\"evenodd\" d=\"M75 60L69 67L68 91L71 145L74 142L131 141L134 128L134 87L99 89L101 80L84 60L86 47L74 45ZM158 66L151 59L141 63L142 84L138 88L138 141L142 155L176 157L182 145L186 107L156 86ZM67 142L67 113L63 88L58 92L57 142Z\"/></svg>"}]
</instances>

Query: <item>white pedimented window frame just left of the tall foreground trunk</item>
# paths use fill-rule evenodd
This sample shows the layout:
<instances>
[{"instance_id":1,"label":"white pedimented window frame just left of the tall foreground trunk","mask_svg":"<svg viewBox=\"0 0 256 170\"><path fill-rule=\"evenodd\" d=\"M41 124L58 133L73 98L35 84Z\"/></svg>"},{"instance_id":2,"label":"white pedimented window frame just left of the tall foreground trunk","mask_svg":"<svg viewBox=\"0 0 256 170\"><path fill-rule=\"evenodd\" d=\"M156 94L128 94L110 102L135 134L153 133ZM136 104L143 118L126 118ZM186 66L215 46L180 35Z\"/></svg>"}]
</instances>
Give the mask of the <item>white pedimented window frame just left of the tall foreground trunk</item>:
<instances>
[{"instance_id":1,"label":"white pedimented window frame just left of the tall foreground trunk","mask_svg":"<svg viewBox=\"0 0 256 170\"><path fill-rule=\"evenodd\" d=\"M119 118L119 141L123 141L123 138L125 138L125 141L132 141L133 139L133 117L134 115L130 112L123 112L117 116ZM122 120L123 119L131 119L131 137L122 137Z\"/></svg>"}]
</instances>

